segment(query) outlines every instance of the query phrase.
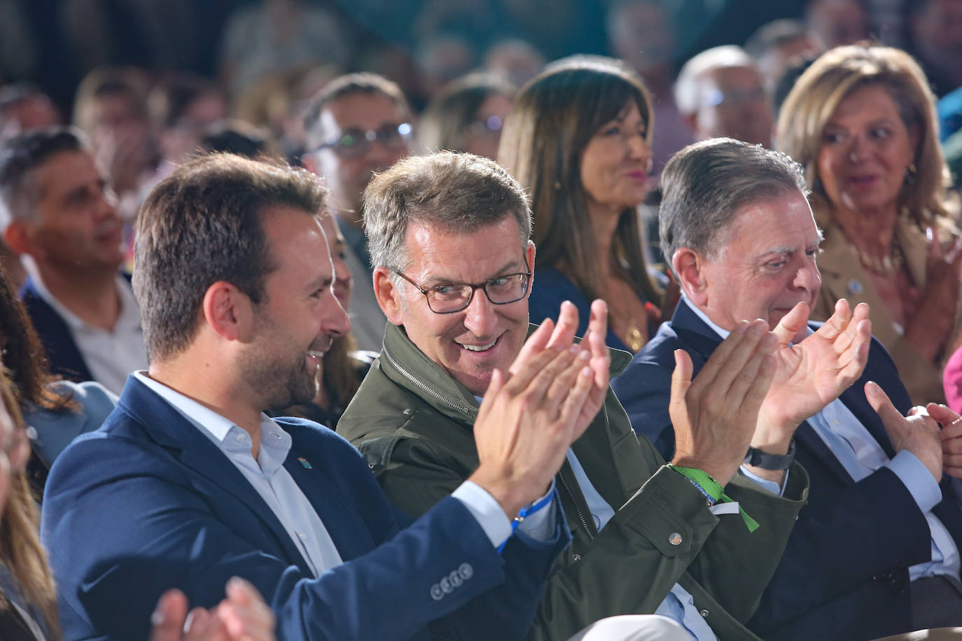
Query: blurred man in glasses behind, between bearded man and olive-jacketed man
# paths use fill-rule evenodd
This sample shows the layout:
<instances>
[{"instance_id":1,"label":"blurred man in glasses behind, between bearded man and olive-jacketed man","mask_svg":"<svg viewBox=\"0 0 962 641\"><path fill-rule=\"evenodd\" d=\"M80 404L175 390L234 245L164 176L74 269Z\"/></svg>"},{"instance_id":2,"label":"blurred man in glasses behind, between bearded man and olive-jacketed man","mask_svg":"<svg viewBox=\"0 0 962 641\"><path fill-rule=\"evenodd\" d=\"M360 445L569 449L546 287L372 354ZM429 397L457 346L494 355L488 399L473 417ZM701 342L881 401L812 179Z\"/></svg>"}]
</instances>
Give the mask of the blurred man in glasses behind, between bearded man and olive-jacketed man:
<instances>
[{"instance_id":1,"label":"blurred man in glasses behind, between bearded man and olive-jacketed man","mask_svg":"<svg viewBox=\"0 0 962 641\"><path fill-rule=\"evenodd\" d=\"M351 322L358 346L365 350L380 351L388 320L374 298L361 198L375 172L410 153L412 119L400 87L371 73L331 81L304 116L308 151L301 160L331 189L354 278Z\"/></svg>"}]
</instances>

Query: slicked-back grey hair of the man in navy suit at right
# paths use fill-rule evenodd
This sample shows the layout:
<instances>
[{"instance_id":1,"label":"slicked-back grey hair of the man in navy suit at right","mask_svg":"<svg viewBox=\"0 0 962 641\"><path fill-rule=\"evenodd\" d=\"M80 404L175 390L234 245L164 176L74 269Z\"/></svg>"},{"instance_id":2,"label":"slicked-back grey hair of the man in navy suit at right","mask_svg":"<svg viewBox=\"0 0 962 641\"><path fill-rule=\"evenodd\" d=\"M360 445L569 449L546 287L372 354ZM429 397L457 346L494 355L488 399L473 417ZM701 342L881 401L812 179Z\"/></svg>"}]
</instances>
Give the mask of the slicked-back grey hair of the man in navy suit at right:
<instances>
[{"instance_id":1,"label":"slicked-back grey hair of the man in navy suit at right","mask_svg":"<svg viewBox=\"0 0 962 641\"><path fill-rule=\"evenodd\" d=\"M675 154L661 177L662 251L681 247L713 259L736 212L749 203L805 193L800 164L787 155L732 138L712 138ZM677 276L677 274L675 274Z\"/></svg>"}]
</instances>

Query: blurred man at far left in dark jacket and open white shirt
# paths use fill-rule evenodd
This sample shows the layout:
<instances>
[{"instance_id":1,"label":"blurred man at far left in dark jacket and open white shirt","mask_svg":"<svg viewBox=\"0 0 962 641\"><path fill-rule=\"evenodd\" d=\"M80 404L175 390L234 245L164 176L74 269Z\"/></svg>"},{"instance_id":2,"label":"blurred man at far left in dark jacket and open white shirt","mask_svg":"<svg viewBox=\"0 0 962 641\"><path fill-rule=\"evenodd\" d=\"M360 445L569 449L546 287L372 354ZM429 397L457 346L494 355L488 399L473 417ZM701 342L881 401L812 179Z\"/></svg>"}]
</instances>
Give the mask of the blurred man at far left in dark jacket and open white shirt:
<instances>
[{"instance_id":1,"label":"blurred man at far left in dark jacket and open white shirt","mask_svg":"<svg viewBox=\"0 0 962 641\"><path fill-rule=\"evenodd\" d=\"M146 354L137 301L117 271L120 216L89 143L64 128L0 143L0 200L4 240L30 258L20 297L51 370L119 393Z\"/></svg>"}]
</instances>

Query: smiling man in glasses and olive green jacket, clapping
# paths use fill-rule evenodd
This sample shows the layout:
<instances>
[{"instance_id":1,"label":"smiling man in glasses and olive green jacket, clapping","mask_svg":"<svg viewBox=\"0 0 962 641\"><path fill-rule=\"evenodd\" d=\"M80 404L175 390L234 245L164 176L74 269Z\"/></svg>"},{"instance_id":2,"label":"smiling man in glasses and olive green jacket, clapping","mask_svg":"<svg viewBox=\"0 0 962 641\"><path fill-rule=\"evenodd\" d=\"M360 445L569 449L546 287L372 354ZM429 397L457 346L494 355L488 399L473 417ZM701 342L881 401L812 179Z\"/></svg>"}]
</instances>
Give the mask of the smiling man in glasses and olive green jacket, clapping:
<instances>
[{"instance_id":1,"label":"smiling man in glasses and olive green jacket, clapping","mask_svg":"<svg viewBox=\"0 0 962 641\"><path fill-rule=\"evenodd\" d=\"M528 329L530 218L503 169L453 154L402 160L376 177L364 214L375 292L392 323L338 429L392 502L417 515L478 464L471 432L478 397L511 372ZM590 333L604 335L604 312L596 302ZM573 333L574 315L563 306L559 330ZM742 622L772 576L808 485L797 463L787 479L784 472L773 479L782 496L737 472L768 390L768 380L747 381L772 376L775 359L746 360L736 344L773 338L759 337L761 325L733 333L704 381L690 382L691 361L679 356L681 400L672 403L672 419L686 426L690 447L681 446L676 468L639 441L610 388L587 417L588 430L556 477L573 543L557 561L530 638L563 640L607 616L656 610L699 639L756 638ZM611 376L629 358L612 351ZM720 503L683 476L689 468L726 484Z\"/></svg>"}]
</instances>

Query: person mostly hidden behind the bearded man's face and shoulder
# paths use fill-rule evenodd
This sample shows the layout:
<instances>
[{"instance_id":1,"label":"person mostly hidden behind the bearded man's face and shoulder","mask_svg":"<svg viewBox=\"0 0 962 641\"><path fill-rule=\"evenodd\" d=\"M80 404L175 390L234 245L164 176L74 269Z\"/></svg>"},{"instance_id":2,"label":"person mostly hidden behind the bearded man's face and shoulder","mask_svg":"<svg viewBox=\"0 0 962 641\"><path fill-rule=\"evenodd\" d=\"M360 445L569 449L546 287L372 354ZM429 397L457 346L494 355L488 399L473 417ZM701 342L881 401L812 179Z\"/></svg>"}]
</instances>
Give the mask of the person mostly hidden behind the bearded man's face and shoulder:
<instances>
[{"instance_id":1,"label":"person mostly hidden behind the bearded man's face and shoulder","mask_svg":"<svg viewBox=\"0 0 962 641\"><path fill-rule=\"evenodd\" d=\"M351 273L344 262L346 247L344 236L338 229L338 221L330 212L320 217L321 227L327 237L327 248L334 260L334 295L344 309L351 304L353 287ZM268 412L271 416L300 416L336 430L347 404L367 376L367 370L377 357L376 352L357 351L351 333L336 336L330 349L317 365L315 381L317 393L310 403L285 407Z\"/></svg>"}]
</instances>

